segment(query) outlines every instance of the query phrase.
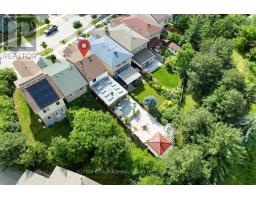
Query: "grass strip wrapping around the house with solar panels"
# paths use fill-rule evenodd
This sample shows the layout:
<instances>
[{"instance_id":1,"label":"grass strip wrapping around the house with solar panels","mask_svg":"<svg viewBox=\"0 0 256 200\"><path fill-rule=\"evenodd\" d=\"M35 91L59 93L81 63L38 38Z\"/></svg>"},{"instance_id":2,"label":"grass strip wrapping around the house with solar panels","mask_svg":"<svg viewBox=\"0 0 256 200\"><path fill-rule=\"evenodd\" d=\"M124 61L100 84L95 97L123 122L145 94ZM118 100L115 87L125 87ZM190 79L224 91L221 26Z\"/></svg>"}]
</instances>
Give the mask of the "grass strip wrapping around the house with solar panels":
<instances>
[{"instance_id":1,"label":"grass strip wrapping around the house with solar panels","mask_svg":"<svg viewBox=\"0 0 256 200\"><path fill-rule=\"evenodd\" d=\"M53 137L68 137L71 127L67 119L54 126L44 128L18 89L15 90L13 99L21 125L21 131L30 142L40 141L49 145Z\"/></svg>"}]
</instances>

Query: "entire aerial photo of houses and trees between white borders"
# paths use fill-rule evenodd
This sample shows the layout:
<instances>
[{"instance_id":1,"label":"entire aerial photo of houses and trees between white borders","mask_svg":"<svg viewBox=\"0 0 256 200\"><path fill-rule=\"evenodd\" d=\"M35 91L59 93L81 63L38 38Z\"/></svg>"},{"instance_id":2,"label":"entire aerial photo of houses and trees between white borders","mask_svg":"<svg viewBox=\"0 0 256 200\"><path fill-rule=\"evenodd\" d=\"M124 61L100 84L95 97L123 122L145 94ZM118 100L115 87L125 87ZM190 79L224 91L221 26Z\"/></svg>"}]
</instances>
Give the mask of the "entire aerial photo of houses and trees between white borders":
<instances>
[{"instance_id":1,"label":"entire aerial photo of houses and trees between white borders","mask_svg":"<svg viewBox=\"0 0 256 200\"><path fill-rule=\"evenodd\" d=\"M256 184L256 15L1 14L1 185Z\"/></svg>"}]
</instances>

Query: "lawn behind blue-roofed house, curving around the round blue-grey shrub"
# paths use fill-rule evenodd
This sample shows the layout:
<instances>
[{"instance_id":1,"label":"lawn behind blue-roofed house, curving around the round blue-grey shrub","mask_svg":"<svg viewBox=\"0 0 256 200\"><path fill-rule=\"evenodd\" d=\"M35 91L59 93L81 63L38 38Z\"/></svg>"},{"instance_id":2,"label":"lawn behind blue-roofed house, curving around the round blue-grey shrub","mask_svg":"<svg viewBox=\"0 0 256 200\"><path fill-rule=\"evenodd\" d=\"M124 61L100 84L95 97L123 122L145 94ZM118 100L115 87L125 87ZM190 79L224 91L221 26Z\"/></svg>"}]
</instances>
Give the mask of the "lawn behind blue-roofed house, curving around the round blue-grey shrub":
<instances>
[{"instance_id":1,"label":"lawn behind blue-roofed house, curving around the round blue-grey shrub","mask_svg":"<svg viewBox=\"0 0 256 200\"><path fill-rule=\"evenodd\" d=\"M157 91L150 87L147 82L140 84L135 90L131 92L131 96L135 97L139 102L143 102L144 98L147 96L154 96L157 101L156 107L159 109L160 106L165 102L165 98L158 94Z\"/></svg>"}]
</instances>

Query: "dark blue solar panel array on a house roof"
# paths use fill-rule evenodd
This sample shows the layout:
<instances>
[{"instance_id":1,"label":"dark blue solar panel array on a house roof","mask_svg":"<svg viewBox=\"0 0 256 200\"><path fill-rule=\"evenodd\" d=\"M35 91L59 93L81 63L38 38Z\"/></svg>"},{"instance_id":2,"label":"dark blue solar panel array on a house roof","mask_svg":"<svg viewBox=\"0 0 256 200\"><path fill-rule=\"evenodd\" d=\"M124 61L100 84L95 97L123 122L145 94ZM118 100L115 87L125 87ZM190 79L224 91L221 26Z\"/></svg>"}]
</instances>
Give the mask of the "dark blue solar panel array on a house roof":
<instances>
[{"instance_id":1,"label":"dark blue solar panel array on a house roof","mask_svg":"<svg viewBox=\"0 0 256 200\"><path fill-rule=\"evenodd\" d=\"M59 99L58 95L46 79L28 87L27 90L40 109L46 108Z\"/></svg>"}]
</instances>

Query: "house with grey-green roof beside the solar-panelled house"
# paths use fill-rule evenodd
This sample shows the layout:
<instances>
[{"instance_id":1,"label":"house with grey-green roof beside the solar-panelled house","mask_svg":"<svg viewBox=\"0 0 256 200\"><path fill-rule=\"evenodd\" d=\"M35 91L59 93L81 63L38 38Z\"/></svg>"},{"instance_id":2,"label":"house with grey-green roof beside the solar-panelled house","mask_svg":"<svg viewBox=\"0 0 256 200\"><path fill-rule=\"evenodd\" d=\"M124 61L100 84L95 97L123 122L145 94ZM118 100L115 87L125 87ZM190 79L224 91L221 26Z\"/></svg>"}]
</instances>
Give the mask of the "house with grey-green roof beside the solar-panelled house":
<instances>
[{"instance_id":1,"label":"house with grey-green roof beside the solar-panelled house","mask_svg":"<svg viewBox=\"0 0 256 200\"><path fill-rule=\"evenodd\" d=\"M87 91L87 82L70 62L62 59L52 63L40 58L38 65L54 80L68 103Z\"/></svg>"}]
</instances>

